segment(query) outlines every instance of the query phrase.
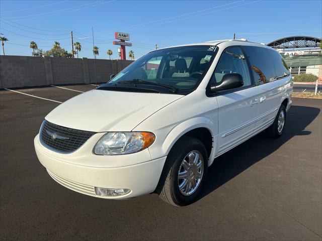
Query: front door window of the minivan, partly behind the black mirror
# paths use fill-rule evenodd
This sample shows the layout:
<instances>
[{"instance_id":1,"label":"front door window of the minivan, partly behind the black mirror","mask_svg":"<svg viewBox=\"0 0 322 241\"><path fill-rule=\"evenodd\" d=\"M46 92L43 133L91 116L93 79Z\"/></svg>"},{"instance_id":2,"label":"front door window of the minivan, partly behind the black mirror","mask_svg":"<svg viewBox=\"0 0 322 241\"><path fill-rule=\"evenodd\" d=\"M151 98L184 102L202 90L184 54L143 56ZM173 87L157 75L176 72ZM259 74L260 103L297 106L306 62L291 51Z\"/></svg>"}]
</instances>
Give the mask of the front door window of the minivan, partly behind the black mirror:
<instances>
[{"instance_id":1,"label":"front door window of the minivan, partly behind the black mirror","mask_svg":"<svg viewBox=\"0 0 322 241\"><path fill-rule=\"evenodd\" d=\"M221 82L225 74L237 73L243 77L244 86L251 85L247 60L239 47L227 48L220 56L214 71L214 81Z\"/></svg>"}]
</instances>

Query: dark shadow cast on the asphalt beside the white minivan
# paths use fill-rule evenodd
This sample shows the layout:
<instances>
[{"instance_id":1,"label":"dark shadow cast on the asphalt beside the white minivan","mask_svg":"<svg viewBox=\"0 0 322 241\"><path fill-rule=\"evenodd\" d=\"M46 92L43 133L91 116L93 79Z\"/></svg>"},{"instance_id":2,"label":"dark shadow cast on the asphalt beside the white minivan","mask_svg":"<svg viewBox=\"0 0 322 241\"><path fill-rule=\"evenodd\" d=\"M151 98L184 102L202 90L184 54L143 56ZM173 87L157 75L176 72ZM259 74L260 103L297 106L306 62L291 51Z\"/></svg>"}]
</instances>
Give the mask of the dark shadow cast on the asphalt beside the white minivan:
<instances>
[{"instance_id":1,"label":"dark shadow cast on the asphalt beside the white minivan","mask_svg":"<svg viewBox=\"0 0 322 241\"><path fill-rule=\"evenodd\" d=\"M198 199L213 192L239 173L272 154L294 136L310 135L311 132L305 131L305 128L319 112L319 108L292 106L287 113L287 123L282 137L271 139L265 136L265 132L262 132L215 158L208 169L207 179Z\"/></svg>"}]
</instances>

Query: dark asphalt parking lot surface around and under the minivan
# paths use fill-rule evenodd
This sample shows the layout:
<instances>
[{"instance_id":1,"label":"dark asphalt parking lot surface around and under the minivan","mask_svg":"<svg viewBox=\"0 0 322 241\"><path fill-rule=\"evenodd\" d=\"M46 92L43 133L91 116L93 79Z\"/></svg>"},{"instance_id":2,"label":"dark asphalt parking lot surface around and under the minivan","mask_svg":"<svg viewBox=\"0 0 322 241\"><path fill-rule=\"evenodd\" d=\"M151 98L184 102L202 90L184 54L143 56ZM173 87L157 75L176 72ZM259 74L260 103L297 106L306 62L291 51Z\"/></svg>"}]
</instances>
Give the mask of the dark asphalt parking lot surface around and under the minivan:
<instances>
[{"instance_id":1,"label":"dark asphalt parking lot surface around and under the minivan","mask_svg":"<svg viewBox=\"0 0 322 241\"><path fill-rule=\"evenodd\" d=\"M41 122L95 88L61 87L72 90L0 90L0 240L322 240L322 100L293 98L282 138L259 134L220 156L201 198L174 207L156 194L94 198L51 179L33 146Z\"/></svg>"}]
</instances>

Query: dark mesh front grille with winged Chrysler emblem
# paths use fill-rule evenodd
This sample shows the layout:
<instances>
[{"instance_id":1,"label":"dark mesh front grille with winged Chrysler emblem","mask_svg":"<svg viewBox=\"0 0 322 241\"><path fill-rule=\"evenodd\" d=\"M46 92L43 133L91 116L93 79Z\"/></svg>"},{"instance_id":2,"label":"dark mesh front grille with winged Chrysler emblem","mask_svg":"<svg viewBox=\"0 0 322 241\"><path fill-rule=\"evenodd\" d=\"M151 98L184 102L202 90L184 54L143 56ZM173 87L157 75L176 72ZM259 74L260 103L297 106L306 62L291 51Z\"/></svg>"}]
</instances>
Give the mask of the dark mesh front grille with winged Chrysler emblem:
<instances>
[{"instance_id":1,"label":"dark mesh front grille with winged Chrysler emblem","mask_svg":"<svg viewBox=\"0 0 322 241\"><path fill-rule=\"evenodd\" d=\"M95 132L61 127L44 121L41 129L42 142L60 152L73 152L81 147Z\"/></svg>"}]
</instances>

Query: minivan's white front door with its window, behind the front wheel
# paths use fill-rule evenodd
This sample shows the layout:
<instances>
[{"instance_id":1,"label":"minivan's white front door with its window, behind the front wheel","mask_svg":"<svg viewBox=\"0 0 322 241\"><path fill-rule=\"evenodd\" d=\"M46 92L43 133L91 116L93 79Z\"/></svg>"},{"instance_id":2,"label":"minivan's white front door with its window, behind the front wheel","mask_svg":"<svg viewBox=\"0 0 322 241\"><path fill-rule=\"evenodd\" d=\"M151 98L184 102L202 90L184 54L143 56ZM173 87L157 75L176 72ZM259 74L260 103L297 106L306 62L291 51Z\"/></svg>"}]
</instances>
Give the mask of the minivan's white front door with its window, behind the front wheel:
<instances>
[{"instance_id":1,"label":"minivan's white front door with its window, behind the front wheel","mask_svg":"<svg viewBox=\"0 0 322 241\"><path fill-rule=\"evenodd\" d=\"M221 82L224 74L238 73L244 86L219 93L218 101L218 147L217 156L252 137L256 128L259 92L252 83L249 66L239 47L223 51L212 81Z\"/></svg>"}]
</instances>

